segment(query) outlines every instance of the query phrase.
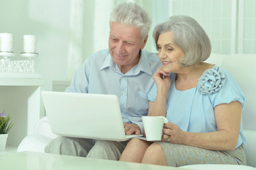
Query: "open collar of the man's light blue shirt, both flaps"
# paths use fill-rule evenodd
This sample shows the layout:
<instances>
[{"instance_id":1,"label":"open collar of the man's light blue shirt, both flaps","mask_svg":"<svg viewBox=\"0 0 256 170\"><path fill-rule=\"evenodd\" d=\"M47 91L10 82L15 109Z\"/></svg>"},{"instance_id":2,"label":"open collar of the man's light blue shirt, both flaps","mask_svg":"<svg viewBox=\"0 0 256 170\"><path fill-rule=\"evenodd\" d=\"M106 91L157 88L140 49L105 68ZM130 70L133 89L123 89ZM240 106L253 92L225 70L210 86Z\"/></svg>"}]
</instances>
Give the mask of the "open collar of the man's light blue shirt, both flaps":
<instances>
[{"instance_id":1,"label":"open collar of the man's light blue shirt, both flaps","mask_svg":"<svg viewBox=\"0 0 256 170\"><path fill-rule=\"evenodd\" d=\"M104 63L101 65L101 69L105 69L106 67L111 67L113 70L119 70L117 64L113 62L110 54L108 54ZM138 64L136 64L132 69L130 69L130 71L127 72L126 75L137 75L140 72L145 72L152 76L152 71L150 69L150 64L148 62L148 57L146 55L145 50L140 50L140 60Z\"/></svg>"}]
</instances>

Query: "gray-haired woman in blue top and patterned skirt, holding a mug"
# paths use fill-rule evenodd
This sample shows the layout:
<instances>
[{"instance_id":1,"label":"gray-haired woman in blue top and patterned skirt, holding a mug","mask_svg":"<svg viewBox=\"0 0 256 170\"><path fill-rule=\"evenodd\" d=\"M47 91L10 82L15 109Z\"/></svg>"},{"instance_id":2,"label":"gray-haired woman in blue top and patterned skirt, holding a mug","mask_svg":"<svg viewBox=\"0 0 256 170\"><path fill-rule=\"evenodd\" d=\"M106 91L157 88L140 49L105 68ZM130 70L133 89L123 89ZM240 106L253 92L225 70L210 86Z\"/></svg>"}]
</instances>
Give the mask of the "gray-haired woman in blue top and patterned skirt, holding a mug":
<instances>
[{"instance_id":1,"label":"gray-haired woman in blue top and patterned skirt, holding a mug","mask_svg":"<svg viewBox=\"0 0 256 170\"><path fill-rule=\"evenodd\" d=\"M148 116L165 116L161 142L133 139L120 161L168 166L246 164L243 91L228 70L204 62L211 42L189 16L160 23L153 37L162 62L148 94ZM230 61L232 62L232 61Z\"/></svg>"}]
</instances>

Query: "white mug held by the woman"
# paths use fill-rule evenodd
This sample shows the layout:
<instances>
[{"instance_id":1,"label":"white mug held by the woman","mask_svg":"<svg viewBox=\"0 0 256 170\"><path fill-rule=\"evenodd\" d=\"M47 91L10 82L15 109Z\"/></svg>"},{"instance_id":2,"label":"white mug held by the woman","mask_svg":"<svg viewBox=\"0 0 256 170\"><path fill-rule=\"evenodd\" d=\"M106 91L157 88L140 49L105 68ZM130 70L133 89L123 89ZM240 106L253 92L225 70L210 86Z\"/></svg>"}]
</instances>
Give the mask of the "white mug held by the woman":
<instances>
[{"instance_id":1,"label":"white mug held by the woman","mask_svg":"<svg viewBox=\"0 0 256 170\"><path fill-rule=\"evenodd\" d=\"M164 116L143 116L145 135L148 141L161 141L162 128L168 123Z\"/></svg>"}]
</instances>

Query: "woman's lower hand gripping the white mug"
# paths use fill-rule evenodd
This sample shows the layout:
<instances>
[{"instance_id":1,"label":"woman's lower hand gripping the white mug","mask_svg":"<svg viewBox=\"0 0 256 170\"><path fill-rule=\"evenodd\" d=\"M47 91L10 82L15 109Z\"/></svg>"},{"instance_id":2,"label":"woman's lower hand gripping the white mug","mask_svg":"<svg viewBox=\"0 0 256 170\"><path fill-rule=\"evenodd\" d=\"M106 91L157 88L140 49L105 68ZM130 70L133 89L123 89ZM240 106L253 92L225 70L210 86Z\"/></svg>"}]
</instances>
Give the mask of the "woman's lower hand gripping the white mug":
<instances>
[{"instance_id":1,"label":"woman's lower hand gripping the white mug","mask_svg":"<svg viewBox=\"0 0 256 170\"><path fill-rule=\"evenodd\" d=\"M179 126L173 123L165 123L164 128L162 130L162 141L170 142L174 144L184 144L185 134Z\"/></svg>"}]
</instances>

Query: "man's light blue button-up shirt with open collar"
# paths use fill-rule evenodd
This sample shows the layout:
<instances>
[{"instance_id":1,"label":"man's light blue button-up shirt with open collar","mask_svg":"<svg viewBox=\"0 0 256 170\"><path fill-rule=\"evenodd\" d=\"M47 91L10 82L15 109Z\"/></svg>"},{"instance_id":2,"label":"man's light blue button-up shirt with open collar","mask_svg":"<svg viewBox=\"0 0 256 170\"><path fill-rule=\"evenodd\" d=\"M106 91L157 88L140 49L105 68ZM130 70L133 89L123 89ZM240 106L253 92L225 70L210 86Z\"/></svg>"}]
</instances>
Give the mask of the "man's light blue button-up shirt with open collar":
<instances>
[{"instance_id":1,"label":"man's light blue button-up shirt with open collar","mask_svg":"<svg viewBox=\"0 0 256 170\"><path fill-rule=\"evenodd\" d=\"M137 124L143 133L141 116L148 115L148 91L158 67L157 55L141 50L138 64L123 74L108 50L101 50L87 58L66 91L118 96L123 122Z\"/></svg>"}]
</instances>

